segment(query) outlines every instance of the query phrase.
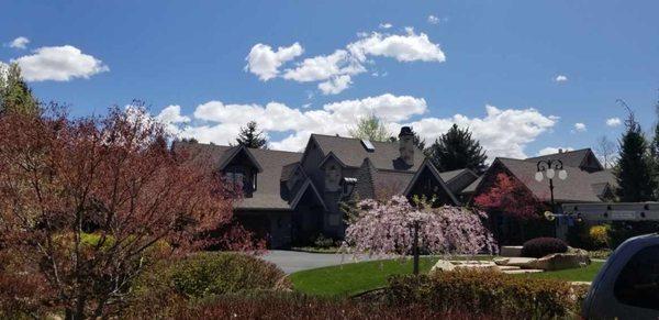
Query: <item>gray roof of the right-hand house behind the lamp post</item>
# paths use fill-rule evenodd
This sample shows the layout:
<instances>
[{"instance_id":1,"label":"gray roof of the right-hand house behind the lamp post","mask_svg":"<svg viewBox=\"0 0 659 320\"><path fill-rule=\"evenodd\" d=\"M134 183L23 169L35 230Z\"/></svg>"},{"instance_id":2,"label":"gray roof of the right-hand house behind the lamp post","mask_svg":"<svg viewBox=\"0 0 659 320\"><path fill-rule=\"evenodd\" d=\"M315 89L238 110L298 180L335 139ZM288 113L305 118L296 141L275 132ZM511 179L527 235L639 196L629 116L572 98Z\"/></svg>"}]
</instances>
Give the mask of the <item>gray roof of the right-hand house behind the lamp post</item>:
<instances>
[{"instance_id":1,"label":"gray roof of the right-hand house behind the lamp post","mask_svg":"<svg viewBox=\"0 0 659 320\"><path fill-rule=\"evenodd\" d=\"M557 205L565 202L602 202L611 200L616 186L615 176L611 169L604 169L597 157L590 148L577 151L559 151L539 157L514 159L498 157L483 174L459 195L471 199L481 192L487 192L499 173L505 173L521 181L540 201L549 203L549 181L537 181L534 175L539 161L560 161L568 173L565 180L554 178L554 199ZM557 209L559 206L557 206Z\"/></svg>"}]
</instances>

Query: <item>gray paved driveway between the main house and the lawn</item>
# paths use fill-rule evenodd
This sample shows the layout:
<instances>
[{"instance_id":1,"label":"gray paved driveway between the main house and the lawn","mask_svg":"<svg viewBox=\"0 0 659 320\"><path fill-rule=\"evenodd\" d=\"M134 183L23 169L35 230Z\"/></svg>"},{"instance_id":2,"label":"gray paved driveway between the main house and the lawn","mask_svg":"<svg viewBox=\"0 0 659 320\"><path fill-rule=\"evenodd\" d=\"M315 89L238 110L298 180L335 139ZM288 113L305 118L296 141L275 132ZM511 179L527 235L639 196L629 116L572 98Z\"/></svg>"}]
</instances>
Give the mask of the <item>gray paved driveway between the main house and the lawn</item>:
<instances>
[{"instance_id":1,"label":"gray paved driveway between the main house and the lawn","mask_svg":"<svg viewBox=\"0 0 659 320\"><path fill-rule=\"evenodd\" d=\"M276 264L287 274L299 271L333 266L342 264L342 254L337 253L308 253L298 251L270 250L261 256L263 260ZM360 257L357 262L369 261L368 256ZM343 263L351 263L353 255L343 255Z\"/></svg>"}]
</instances>

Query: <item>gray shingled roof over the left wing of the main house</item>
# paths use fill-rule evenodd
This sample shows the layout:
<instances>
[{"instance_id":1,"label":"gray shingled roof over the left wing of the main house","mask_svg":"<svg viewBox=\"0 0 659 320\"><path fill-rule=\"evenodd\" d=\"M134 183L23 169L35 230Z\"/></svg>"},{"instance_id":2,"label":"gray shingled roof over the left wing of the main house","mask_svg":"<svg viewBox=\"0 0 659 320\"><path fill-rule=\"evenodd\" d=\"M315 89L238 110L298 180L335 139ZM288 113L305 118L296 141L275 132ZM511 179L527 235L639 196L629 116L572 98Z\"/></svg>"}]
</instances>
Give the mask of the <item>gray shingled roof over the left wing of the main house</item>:
<instances>
[{"instance_id":1,"label":"gray shingled roof over the left wing of the main house","mask_svg":"<svg viewBox=\"0 0 659 320\"><path fill-rule=\"evenodd\" d=\"M211 145L203 143L177 142L175 152L189 152L192 163L216 170L220 163L225 161L225 154L236 146ZM301 153L283 152L273 150L248 148L254 158L261 166L263 172L258 174L258 186L252 198L244 198L237 203L237 209L291 209L288 201L281 198L281 177L284 167L290 168L295 162L300 162Z\"/></svg>"}]
</instances>

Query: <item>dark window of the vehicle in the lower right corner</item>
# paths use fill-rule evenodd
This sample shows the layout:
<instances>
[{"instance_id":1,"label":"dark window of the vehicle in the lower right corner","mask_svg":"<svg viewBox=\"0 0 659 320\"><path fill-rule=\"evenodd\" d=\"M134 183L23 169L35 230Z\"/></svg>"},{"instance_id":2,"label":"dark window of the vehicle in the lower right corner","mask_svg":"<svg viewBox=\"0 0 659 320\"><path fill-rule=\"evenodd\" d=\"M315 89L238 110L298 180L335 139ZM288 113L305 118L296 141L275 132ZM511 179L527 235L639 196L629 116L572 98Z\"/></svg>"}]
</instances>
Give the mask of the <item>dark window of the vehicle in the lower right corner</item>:
<instances>
[{"instance_id":1,"label":"dark window of the vehicle in the lower right corner","mask_svg":"<svg viewBox=\"0 0 659 320\"><path fill-rule=\"evenodd\" d=\"M613 293L625 305L659 310L659 245L640 250L627 262Z\"/></svg>"}]
</instances>

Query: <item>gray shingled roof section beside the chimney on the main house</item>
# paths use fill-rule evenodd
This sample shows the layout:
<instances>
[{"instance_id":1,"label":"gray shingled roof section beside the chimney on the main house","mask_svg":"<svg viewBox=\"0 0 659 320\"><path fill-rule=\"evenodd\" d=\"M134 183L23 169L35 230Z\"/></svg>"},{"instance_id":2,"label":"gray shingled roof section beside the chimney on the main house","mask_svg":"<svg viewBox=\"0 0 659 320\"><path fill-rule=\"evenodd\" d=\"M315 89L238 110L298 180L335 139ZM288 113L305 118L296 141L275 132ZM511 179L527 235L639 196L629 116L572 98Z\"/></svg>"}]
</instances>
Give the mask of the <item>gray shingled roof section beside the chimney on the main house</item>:
<instances>
[{"instance_id":1,"label":"gray shingled roof section beside the chimney on the main house","mask_svg":"<svg viewBox=\"0 0 659 320\"><path fill-rule=\"evenodd\" d=\"M361 141L354 137L312 134L324 155L334 153L342 163L350 167L359 167L364 158L368 157L378 169L416 172L424 161L420 148L414 152L414 165L407 166L400 159L399 144L396 142L373 142L373 152L364 148Z\"/></svg>"}]
</instances>

